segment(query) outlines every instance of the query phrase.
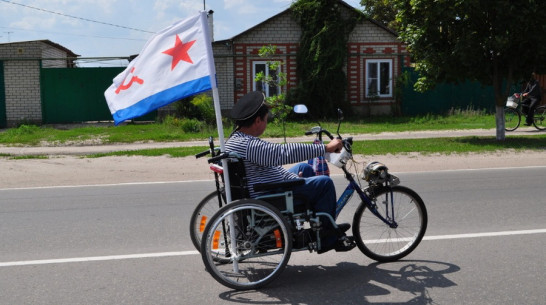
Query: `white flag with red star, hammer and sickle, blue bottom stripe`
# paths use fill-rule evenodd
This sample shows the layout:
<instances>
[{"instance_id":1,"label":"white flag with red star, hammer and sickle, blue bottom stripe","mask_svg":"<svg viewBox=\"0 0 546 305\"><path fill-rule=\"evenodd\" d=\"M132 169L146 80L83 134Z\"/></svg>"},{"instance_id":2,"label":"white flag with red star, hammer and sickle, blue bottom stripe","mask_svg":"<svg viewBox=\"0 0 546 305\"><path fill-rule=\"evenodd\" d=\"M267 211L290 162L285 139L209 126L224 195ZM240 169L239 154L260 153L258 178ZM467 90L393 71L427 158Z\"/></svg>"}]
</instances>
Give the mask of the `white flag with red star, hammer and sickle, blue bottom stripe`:
<instances>
[{"instance_id":1,"label":"white flag with red star, hammer and sickle, blue bottom stripe","mask_svg":"<svg viewBox=\"0 0 546 305\"><path fill-rule=\"evenodd\" d=\"M154 35L104 92L116 125L216 88L207 15L201 12Z\"/></svg>"}]
</instances>

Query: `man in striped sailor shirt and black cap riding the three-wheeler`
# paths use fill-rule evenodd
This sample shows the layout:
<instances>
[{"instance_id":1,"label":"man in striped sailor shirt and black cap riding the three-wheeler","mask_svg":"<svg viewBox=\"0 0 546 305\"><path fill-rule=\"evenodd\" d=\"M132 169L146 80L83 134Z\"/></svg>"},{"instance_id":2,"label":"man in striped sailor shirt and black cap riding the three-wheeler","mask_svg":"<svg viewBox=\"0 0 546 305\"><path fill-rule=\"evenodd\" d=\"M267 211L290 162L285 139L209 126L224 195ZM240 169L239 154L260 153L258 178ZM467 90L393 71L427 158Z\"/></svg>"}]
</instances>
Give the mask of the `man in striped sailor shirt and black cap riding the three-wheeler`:
<instances>
[{"instance_id":1,"label":"man in striped sailor shirt and black cap riding the three-wheeler","mask_svg":"<svg viewBox=\"0 0 546 305\"><path fill-rule=\"evenodd\" d=\"M339 152L342 142L339 139L323 144L275 144L259 138L266 127L269 107L262 92L254 91L243 96L231 110L235 121L235 131L226 142L226 151L241 156L246 171L249 196L256 198L267 191L256 191L255 184L304 179L302 185L294 186L291 191L295 198L305 199L312 204L315 212L328 213L335 218L336 190L332 179L328 176L314 176L308 164L300 163L289 170L282 167L285 164L307 161L323 156L328 152ZM271 192L271 191L269 191ZM301 200L296 205L304 204ZM348 251L354 248L354 243L347 243L344 232L350 225L335 226L329 219L321 219L323 234L320 253L336 249Z\"/></svg>"}]
</instances>

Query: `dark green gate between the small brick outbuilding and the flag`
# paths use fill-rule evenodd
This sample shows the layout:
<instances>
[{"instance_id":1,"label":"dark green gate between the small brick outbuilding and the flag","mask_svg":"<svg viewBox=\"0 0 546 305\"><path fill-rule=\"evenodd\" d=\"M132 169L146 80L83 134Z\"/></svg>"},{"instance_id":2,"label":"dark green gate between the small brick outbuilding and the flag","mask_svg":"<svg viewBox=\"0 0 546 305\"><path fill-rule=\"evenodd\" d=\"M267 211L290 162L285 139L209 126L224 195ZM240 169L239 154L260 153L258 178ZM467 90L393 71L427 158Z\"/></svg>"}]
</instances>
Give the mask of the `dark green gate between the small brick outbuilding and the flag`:
<instances>
[{"instance_id":1,"label":"dark green gate between the small brick outbuilding and the flag","mask_svg":"<svg viewBox=\"0 0 546 305\"><path fill-rule=\"evenodd\" d=\"M42 120L45 124L111 121L104 91L124 68L42 68ZM154 120L157 111L138 120Z\"/></svg>"}]
</instances>

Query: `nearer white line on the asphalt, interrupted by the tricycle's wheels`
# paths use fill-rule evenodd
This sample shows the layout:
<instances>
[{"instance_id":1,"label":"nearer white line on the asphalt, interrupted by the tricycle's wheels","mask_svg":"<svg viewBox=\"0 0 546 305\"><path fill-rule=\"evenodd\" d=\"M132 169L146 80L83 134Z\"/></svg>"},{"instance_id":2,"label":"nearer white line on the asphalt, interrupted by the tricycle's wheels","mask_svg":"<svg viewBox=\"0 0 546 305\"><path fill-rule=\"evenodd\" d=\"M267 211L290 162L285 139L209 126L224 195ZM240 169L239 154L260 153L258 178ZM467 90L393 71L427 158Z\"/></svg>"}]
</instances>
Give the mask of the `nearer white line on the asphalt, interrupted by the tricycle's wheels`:
<instances>
[{"instance_id":1,"label":"nearer white line on the asphalt, interrupted by the tricycle's wheels","mask_svg":"<svg viewBox=\"0 0 546 305\"><path fill-rule=\"evenodd\" d=\"M484 232L484 233L468 233L468 234L452 234L452 235L436 235L436 236L425 236L423 238L423 240L447 240L447 239L458 239L458 238L497 237L497 236L541 234L541 233L546 233L546 229ZM43 259L43 260L14 261L14 262L3 262L3 263L0 262L0 267L64 264L64 263L83 263L83 262L111 261L111 260L124 260L124 259L136 259L136 258L187 256L187 255L197 255L197 254L199 254L199 252L193 250L193 251L178 251L178 252L158 252L158 253L143 253L143 254L127 254L127 255L108 255L108 256L74 257L74 258L60 258L60 259Z\"/></svg>"}]
</instances>

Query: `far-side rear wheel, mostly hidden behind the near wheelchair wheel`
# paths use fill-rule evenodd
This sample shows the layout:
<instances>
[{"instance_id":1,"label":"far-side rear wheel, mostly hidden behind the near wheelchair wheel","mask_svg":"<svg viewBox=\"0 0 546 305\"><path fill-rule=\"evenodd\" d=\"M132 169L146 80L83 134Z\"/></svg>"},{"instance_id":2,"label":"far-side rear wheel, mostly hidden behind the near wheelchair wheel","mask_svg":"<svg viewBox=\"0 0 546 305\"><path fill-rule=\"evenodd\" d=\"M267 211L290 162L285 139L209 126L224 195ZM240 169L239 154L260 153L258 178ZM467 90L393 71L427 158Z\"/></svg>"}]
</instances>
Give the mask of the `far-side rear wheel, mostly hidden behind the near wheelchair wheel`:
<instances>
[{"instance_id":1,"label":"far-side rear wheel, mostly hidden behind the near wheelchair wheel","mask_svg":"<svg viewBox=\"0 0 546 305\"><path fill-rule=\"evenodd\" d=\"M223 194L222 194L223 195ZM224 206L225 200L218 200L218 191L214 191L195 207L190 218L190 237L197 251L201 250L201 237L210 218Z\"/></svg>"}]
</instances>

